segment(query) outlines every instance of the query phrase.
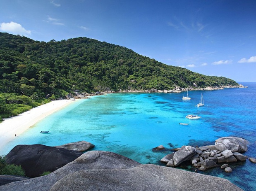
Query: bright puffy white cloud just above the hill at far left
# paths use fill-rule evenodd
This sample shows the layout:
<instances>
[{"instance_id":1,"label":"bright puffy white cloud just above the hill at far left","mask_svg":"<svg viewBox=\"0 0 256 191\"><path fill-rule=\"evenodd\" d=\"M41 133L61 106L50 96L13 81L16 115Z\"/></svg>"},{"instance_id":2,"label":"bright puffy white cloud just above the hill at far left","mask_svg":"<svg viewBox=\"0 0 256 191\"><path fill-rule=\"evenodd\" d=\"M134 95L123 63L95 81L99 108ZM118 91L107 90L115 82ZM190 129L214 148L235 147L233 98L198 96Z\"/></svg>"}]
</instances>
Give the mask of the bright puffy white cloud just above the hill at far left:
<instances>
[{"instance_id":1,"label":"bright puffy white cloud just above the hill at far left","mask_svg":"<svg viewBox=\"0 0 256 191\"><path fill-rule=\"evenodd\" d=\"M0 23L0 30L15 35L31 35L31 30L26 30L21 24L12 21L10 23Z\"/></svg>"}]
</instances>

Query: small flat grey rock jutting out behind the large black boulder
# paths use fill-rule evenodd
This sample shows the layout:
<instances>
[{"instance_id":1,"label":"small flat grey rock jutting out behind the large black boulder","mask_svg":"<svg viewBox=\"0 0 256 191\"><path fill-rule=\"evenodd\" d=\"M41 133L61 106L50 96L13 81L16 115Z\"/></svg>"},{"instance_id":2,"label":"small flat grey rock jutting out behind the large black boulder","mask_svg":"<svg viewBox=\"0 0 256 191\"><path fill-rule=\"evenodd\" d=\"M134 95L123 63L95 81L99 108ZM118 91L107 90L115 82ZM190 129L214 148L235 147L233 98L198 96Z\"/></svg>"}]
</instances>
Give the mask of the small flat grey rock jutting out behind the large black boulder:
<instances>
[{"instance_id":1,"label":"small flat grey rock jutting out behind the large black boulder","mask_svg":"<svg viewBox=\"0 0 256 191\"><path fill-rule=\"evenodd\" d=\"M68 144L63 144L63 145L54 146L54 147L64 148L64 149L72 150L72 151L84 152L84 151L87 151L87 150L93 148L94 145L91 144L90 142L78 141L78 142L71 142Z\"/></svg>"}]
</instances>

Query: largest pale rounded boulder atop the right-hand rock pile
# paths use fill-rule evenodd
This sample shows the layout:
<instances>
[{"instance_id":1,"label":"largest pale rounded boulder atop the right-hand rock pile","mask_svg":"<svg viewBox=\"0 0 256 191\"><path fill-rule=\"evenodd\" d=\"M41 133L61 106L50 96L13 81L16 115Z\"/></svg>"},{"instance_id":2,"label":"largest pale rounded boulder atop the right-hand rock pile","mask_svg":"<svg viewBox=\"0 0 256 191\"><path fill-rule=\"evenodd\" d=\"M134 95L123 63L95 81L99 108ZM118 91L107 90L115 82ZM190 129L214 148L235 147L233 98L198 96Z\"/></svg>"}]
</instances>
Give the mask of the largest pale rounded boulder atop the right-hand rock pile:
<instances>
[{"instance_id":1,"label":"largest pale rounded boulder atop the right-hand rock pile","mask_svg":"<svg viewBox=\"0 0 256 191\"><path fill-rule=\"evenodd\" d=\"M221 137L215 140L215 147L219 151L226 149L232 152L245 152L247 151L247 141L240 137Z\"/></svg>"}]
</instances>

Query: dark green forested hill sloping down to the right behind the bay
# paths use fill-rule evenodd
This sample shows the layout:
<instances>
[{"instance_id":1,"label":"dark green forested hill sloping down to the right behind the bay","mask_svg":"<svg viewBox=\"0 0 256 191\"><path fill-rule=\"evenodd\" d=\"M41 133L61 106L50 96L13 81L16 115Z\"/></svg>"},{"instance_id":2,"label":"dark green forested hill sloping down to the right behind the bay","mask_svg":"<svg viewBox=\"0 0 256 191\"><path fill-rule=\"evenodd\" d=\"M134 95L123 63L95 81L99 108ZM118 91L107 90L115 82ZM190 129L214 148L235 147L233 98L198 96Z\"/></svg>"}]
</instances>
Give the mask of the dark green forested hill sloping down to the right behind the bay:
<instances>
[{"instance_id":1,"label":"dark green forested hill sloping down to the right behind the bay","mask_svg":"<svg viewBox=\"0 0 256 191\"><path fill-rule=\"evenodd\" d=\"M225 77L210 77L165 65L131 49L78 37L39 42L0 33L0 93L43 98L81 92L174 89L238 85Z\"/></svg>"}]
</instances>

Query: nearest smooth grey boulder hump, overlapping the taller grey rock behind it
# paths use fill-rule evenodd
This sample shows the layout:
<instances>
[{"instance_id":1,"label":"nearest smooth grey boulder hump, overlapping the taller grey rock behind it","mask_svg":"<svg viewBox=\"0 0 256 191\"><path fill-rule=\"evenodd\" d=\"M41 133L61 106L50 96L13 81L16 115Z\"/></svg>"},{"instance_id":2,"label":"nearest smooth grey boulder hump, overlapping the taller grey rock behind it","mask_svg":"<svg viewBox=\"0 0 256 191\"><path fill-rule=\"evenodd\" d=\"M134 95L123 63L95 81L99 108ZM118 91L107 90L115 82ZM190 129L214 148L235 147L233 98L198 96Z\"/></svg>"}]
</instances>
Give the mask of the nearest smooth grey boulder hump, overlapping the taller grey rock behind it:
<instances>
[{"instance_id":1,"label":"nearest smooth grey boulder hump, overlapping the taller grey rock behind it","mask_svg":"<svg viewBox=\"0 0 256 191\"><path fill-rule=\"evenodd\" d=\"M146 164L130 169L95 169L74 172L60 179L50 189L50 191L60 190L238 191L242 189L227 179Z\"/></svg>"}]
</instances>

